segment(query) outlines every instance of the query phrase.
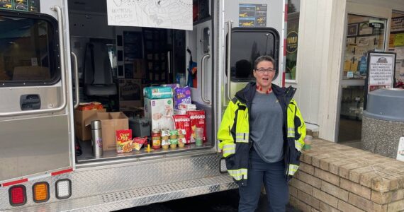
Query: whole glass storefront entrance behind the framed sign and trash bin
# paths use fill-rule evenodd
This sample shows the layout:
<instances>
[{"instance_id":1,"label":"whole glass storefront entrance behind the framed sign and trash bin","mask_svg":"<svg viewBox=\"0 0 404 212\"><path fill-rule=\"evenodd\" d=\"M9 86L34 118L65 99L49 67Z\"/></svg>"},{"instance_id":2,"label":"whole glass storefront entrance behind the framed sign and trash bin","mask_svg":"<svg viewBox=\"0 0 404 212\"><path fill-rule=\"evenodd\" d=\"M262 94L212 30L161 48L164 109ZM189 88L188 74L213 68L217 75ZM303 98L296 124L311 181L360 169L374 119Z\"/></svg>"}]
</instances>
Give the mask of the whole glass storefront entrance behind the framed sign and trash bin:
<instances>
[{"instance_id":1,"label":"whole glass storefront entrance behind the framed sign and trash bin","mask_svg":"<svg viewBox=\"0 0 404 212\"><path fill-rule=\"evenodd\" d=\"M394 88L404 87L404 12L347 2L346 17L336 141L359 143L368 54L395 52Z\"/></svg>"}]
</instances>

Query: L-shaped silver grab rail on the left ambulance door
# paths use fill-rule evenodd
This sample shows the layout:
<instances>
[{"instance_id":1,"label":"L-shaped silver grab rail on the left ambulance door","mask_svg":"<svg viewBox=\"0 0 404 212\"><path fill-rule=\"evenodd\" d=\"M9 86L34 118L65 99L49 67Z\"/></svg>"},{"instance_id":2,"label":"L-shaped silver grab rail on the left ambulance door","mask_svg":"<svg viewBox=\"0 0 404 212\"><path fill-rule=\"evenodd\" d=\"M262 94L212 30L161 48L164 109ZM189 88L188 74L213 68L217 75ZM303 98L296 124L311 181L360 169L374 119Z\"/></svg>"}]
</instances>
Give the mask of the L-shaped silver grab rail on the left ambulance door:
<instances>
[{"instance_id":1,"label":"L-shaped silver grab rail on the left ambulance door","mask_svg":"<svg viewBox=\"0 0 404 212\"><path fill-rule=\"evenodd\" d=\"M60 70L62 72L61 83L62 83L62 104L59 107L51 108L51 109L43 109L43 110L26 110L26 111L18 111L18 112L0 112L0 117L13 117L13 116L22 116L22 115L30 115L30 114L42 114L42 113L51 113L51 112L59 112L63 110L67 105L66 100L66 69L64 66L64 45L63 45L63 20L62 20L62 9L60 6L52 6L51 9L57 12L57 28L59 29L59 42L60 42Z\"/></svg>"}]
</instances>

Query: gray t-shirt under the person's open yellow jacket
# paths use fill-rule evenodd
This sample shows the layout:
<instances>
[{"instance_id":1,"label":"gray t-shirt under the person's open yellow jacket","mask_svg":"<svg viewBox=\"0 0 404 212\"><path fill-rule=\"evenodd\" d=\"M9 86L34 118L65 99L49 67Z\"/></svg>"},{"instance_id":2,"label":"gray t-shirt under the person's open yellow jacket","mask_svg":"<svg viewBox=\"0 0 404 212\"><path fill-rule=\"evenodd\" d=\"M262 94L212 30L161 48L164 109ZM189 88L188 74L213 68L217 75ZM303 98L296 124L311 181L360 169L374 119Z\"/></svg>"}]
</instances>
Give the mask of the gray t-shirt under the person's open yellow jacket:
<instances>
[{"instance_id":1,"label":"gray t-shirt under the person's open yellow jacket","mask_svg":"<svg viewBox=\"0 0 404 212\"><path fill-rule=\"evenodd\" d=\"M251 106L251 132L254 149L266 163L284 158L283 115L274 93L256 93Z\"/></svg>"}]
</instances>

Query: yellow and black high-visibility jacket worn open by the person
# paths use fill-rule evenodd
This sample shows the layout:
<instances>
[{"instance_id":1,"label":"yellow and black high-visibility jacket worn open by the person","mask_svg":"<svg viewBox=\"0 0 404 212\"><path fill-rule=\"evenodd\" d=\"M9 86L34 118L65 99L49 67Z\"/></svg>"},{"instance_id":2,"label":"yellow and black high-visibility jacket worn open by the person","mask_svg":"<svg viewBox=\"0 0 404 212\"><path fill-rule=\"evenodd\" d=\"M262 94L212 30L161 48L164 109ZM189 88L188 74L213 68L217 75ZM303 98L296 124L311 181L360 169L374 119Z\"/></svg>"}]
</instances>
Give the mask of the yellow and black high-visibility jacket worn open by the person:
<instances>
[{"instance_id":1,"label":"yellow and black high-visibility jacket worn open by the person","mask_svg":"<svg viewBox=\"0 0 404 212\"><path fill-rule=\"evenodd\" d=\"M304 145L305 123L301 112L293 100L296 88L280 88L272 84L272 91L281 104L284 126L284 164L285 177L290 179L298 170L301 150ZM252 100L256 92L256 84L249 83L236 93L223 114L218 131L219 148L226 160L229 175L239 186L247 185L249 153L252 140L249 138ZM265 107L265 105L262 105ZM269 139L270 140L270 139Z\"/></svg>"}]
</instances>

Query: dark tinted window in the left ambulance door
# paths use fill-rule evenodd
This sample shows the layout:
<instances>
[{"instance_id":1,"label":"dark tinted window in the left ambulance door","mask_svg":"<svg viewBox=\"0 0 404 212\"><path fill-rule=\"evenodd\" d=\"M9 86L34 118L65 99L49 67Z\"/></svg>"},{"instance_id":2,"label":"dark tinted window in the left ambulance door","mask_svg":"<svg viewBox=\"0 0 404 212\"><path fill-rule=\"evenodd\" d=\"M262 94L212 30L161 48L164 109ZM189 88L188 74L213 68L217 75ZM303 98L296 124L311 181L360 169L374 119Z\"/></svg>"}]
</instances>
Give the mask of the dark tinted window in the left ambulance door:
<instances>
[{"instance_id":1,"label":"dark tinted window in the left ambulance door","mask_svg":"<svg viewBox=\"0 0 404 212\"><path fill-rule=\"evenodd\" d=\"M52 84L59 76L55 59L56 24L32 15L0 14L0 83L4 86Z\"/></svg>"}]
</instances>

